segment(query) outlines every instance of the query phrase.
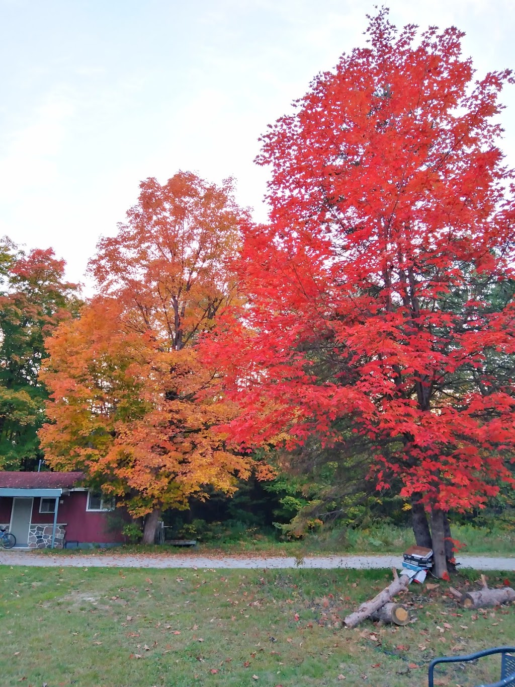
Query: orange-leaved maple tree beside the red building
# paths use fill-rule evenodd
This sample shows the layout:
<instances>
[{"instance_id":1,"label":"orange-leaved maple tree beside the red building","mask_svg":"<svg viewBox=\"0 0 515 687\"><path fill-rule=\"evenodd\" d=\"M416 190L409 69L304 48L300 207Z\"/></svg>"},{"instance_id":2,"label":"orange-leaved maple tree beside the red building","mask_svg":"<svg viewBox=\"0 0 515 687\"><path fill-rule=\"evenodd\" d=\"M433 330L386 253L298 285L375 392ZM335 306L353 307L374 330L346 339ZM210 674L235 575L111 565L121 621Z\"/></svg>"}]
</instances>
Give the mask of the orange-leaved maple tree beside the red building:
<instances>
[{"instance_id":1,"label":"orange-leaved maple tree beside the red building","mask_svg":"<svg viewBox=\"0 0 515 687\"><path fill-rule=\"evenodd\" d=\"M213 429L235 407L195 347L236 297L230 263L244 216L231 180L179 172L142 182L127 223L91 261L100 293L48 342L47 462L84 469L146 515L146 543L163 508L185 507L207 484L231 493L249 472Z\"/></svg>"}]
</instances>

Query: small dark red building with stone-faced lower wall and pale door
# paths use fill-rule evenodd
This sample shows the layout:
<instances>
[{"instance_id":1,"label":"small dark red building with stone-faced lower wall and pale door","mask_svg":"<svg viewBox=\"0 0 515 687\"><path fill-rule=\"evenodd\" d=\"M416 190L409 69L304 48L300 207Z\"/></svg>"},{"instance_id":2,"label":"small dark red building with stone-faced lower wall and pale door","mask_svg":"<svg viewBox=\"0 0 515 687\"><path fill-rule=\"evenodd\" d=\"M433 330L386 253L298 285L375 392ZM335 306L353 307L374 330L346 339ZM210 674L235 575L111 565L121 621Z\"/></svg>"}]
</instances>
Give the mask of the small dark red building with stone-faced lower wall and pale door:
<instances>
[{"instance_id":1,"label":"small dark red building with stone-faced lower wall and pale door","mask_svg":"<svg viewBox=\"0 0 515 687\"><path fill-rule=\"evenodd\" d=\"M80 472L0 471L0 526L21 548L122 543L124 515L83 480Z\"/></svg>"}]
</instances>

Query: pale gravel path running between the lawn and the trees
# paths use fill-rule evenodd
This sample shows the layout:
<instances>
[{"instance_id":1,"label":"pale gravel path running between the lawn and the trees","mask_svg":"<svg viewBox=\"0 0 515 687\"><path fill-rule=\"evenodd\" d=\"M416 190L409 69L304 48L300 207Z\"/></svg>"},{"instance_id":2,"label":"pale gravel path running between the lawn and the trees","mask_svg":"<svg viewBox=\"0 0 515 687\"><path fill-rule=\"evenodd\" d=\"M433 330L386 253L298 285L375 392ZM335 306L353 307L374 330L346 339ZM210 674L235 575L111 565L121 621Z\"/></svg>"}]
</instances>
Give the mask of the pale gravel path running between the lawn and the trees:
<instances>
[{"instance_id":1,"label":"pale gravel path running between the lawn and the trees","mask_svg":"<svg viewBox=\"0 0 515 687\"><path fill-rule=\"evenodd\" d=\"M192 567L192 568L357 568L369 569L401 566L401 556L317 556L305 558L260 558L249 556L185 556L183 554L122 555L122 554L41 554L32 551L0 551L0 565L27 565L41 567ZM475 570L515 570L515 558L490 556L461 556L461 567Z\"/></svg>"}]
</instances>

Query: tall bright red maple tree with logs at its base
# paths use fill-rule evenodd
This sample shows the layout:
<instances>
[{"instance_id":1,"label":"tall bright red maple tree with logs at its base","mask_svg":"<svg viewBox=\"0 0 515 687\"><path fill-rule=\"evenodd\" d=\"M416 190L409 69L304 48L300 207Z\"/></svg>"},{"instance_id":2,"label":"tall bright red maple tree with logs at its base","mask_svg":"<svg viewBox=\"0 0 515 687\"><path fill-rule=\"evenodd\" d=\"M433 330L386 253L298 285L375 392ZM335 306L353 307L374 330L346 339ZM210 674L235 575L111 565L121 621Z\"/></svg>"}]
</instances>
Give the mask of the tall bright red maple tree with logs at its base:
<instances>
[{"instance_id":1,"label":"tall bright red maple tree with logs at its base","mask_svg":"<svg viewBox=\"0 0 515 687\"><path fill-rule=\"evenodd\" d=\"M442 575L446 512L514 484L515 205L495 120L512 77L474 81L455 28L369 19L367 47L262 138L270 223L247 229L249 305L210 349L235 442L367 453Z\"/></svg>"}]
</instances>

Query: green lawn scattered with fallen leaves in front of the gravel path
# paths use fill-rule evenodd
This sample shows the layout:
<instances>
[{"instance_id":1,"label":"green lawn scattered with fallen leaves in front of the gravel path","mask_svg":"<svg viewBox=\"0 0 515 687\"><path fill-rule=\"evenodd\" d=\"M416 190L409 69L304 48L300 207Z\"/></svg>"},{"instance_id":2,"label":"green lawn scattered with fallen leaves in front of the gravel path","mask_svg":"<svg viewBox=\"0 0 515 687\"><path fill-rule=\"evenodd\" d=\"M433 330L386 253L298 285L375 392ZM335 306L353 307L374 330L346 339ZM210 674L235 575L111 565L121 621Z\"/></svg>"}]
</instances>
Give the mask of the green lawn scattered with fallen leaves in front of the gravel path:
<instances>
[{"instance_id":1,"label":"green lawn scattered with fallen leaves in front of the gravel path","mask_svg":"<svg viewBox=\"0 0 515 687\"><path fill-rule=\"evenodd\" d=\"M474 587L477 576L453 584ZM511 573L490 574L490 585L506 576L514 585ZM418 687L435 655L515 642L514 607L461 611L445 584L410 587L406 627L342 629L389 582L386 570L2 566L0 579L2 686ZM472 673L467 682L450 668L437 684L499 679L493 662Z\"/></svg>"}]
</instances>

